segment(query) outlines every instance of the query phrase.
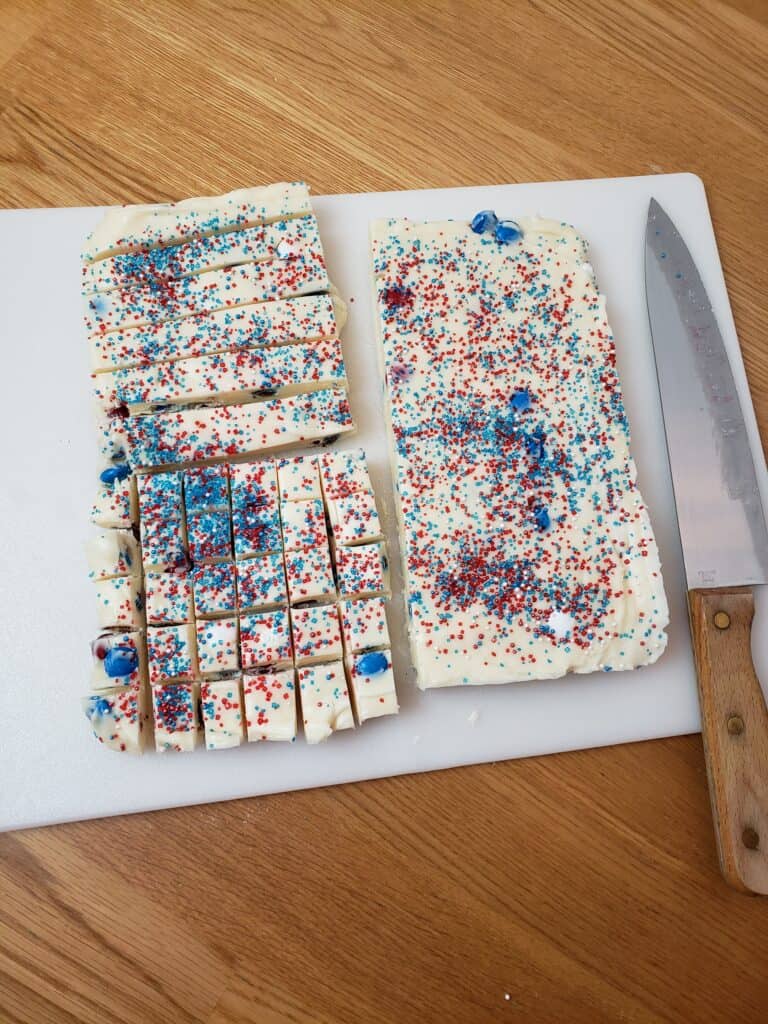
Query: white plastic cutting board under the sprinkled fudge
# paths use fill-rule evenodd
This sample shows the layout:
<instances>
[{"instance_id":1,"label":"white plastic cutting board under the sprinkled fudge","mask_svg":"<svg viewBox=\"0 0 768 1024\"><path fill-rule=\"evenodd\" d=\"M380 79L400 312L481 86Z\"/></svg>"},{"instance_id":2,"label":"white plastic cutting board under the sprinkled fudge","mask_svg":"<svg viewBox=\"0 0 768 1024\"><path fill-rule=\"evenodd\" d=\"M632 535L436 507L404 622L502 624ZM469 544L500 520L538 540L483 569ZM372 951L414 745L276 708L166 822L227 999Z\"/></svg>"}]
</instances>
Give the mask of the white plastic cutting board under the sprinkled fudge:
<instances>
[{"instance_id":1,"label":"white plastic cutting board under the sprinkled fudge","mask_svg":"<svg viewBox=\"0 0 768 1024\"><path fill-rule=\"evenodd\" d=\"M662 660L634 673L421 693L410 674L398 558L393 557L390 630L398 718L369 722L321 746L299 739L141 758L97 744L80 710L80 696L88 689L89 641L96 633L83 546L97 458L78 255L101 211L0 212L0 828L697 731L682 562L645 310L643 234L651 196L671 214L698 264L730 349L754 451L760 453L697 177L327 196L317 197L314 207L331 275L349 302L343 341L358 431L343 446L365 446L390 524L392 490L369 294L369 221L385 216L467 219L493 208L504 217L541 213L569 221L586 236L599 286L608 297L640 486L662 549L672 615L670 645ZM765 485L762 454L758 464ZM389 543L394 553L391 530ZM768 601L763 594L758 597L755 654L765 681Z\"/></svg>"}]
</instances>

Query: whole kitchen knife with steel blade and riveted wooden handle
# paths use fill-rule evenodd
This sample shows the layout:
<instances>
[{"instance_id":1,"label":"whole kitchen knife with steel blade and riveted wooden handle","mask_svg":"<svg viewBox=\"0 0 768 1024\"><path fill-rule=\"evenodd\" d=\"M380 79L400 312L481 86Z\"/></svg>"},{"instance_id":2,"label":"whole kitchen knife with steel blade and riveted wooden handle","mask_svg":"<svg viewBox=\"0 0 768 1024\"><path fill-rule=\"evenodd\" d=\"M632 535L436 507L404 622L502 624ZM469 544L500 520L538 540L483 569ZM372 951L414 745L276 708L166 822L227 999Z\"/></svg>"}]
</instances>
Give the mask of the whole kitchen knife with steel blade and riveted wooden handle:
<instances>
[{"instance_id":1,"label":"whole kitchen knife with steel blade and riveted wooden handle","mask_svg":"<svg viewBox=\"0 0 768 1024\"><path fill-rule=\"evenodd\" d=\"M768 530L723 337L685 242L651 199L645 292L683 547L720 867L768 894L768 711L752 660Z\"/></svg>"}]
</instances>

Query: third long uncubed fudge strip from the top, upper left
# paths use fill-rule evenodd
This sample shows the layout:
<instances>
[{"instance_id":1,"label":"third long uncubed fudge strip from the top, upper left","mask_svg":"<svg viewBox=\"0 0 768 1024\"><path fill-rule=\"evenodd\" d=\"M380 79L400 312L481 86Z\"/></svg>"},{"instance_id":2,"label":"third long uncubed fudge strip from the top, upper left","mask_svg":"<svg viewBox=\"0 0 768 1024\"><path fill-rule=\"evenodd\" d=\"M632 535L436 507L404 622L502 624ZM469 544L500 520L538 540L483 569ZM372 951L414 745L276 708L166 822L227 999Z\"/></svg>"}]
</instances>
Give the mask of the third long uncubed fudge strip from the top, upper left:
<instances>
[{"instance_id":1,"label":"third long uncubed fudge strip from the top, upper left","mask_svg":"<svg viewBox=\"0 0 768 1024\"><path fill-rule=\"evenodd\" d=\"M126 291L96 292L85 299L85 328L91 335L109 334L270 299L327 292L330 287L323 252L308 251L304 259L207 270L160 289L143 285Z\"/></svg>"}]
</instances>

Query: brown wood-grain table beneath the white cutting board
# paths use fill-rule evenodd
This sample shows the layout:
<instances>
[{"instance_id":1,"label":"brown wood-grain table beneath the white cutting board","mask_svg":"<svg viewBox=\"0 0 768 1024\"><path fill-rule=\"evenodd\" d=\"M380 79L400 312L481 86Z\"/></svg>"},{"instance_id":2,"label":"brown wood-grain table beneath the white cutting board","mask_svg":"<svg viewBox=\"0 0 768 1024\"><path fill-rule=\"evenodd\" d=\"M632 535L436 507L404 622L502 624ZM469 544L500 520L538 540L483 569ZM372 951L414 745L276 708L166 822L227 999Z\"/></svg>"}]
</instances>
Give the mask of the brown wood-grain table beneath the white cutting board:
<instances>
[{"instance_id":1,"label":"brown wood-grain table beneath the white cutting board","mask_svg":"<svg viewBox=\"0 0 768 1024\"><path fill-rule=\"evenodd\" d=\"M695 171L765 437L766 23L2 0L0 204ZM6 835L0 879L3 1024L768 1019L697 736Z\"/></svg>"}]
</instances>

